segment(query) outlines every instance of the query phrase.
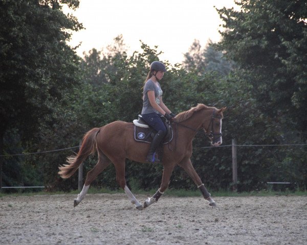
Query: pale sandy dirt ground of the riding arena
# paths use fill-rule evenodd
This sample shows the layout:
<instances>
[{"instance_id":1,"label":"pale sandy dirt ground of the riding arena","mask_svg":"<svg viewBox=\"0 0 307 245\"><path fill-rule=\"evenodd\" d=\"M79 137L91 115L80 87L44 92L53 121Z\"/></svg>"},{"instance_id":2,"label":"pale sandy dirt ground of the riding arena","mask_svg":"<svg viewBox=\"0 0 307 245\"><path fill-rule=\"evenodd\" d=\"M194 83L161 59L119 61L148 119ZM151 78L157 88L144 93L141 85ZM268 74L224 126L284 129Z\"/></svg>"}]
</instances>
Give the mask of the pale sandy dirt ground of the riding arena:
<instances>
[{"instance_id":1,"label":"pale sandy dirt ground of the riding arena","mask_svg":"<svg viewBox=\"0 0 307 245\"><path fill-rule=\"evenodd\" d=\"M307 244L307 196L222 197L217 208L162 196L142 211L125 194L74 198L0 198L0 244Z\"/></svg>"}]
</instances>

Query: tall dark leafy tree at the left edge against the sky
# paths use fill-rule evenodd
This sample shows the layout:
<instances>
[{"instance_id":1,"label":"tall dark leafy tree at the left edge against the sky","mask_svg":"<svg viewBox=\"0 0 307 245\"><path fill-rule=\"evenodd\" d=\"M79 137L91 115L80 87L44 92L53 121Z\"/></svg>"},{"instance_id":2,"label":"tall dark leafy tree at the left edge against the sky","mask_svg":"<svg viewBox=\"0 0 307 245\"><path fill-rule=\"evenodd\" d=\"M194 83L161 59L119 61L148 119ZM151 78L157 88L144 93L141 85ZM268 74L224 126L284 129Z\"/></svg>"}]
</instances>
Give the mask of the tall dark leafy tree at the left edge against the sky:
<instances>
[{"instance_id":1,"label":"tall dark leafy tree at the left edge against the sky","mask_svg":"<svg viewBox=\"0 0 307 245\"><path fill-rule=\"evenodd\" d=\"M79 1L0 2L0 155L6 132L18 129L25 142L42 125L53 125L66 94L79 84L79 58L66 41L82 24L64 15L62 4L75 9Z\"/></svg>"}]
</instances>

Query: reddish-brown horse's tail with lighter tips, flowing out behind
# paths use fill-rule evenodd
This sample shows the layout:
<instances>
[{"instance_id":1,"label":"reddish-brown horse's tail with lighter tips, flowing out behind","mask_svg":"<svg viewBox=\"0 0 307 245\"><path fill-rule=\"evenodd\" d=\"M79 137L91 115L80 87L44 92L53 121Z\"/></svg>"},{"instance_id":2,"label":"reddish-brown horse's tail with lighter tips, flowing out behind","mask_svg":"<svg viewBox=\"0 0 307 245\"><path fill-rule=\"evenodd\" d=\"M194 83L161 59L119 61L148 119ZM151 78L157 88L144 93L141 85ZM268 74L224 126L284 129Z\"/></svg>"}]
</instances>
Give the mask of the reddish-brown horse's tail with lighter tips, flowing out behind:
<instances>
[{"instance_id":1,"label":"reddish-brown horse's tail with lighter tips, flowing out behind","mask_svg":"<svg viewBox=\"0 0 307 245\"><path fill-rule=\"evenodd\" d=\"M70 178L75 171L78 169L80 164L85 160L87 156L89 156L91 153L94 154L96 151L96 136L99 133L99 128L94 128L87 132L82 140L81 148L78 152L78 154L74 156L70 156L67 158L68 164L63 164L59 166L60 171L58 174L63 179Z\"/></svg>"}]
</instances>

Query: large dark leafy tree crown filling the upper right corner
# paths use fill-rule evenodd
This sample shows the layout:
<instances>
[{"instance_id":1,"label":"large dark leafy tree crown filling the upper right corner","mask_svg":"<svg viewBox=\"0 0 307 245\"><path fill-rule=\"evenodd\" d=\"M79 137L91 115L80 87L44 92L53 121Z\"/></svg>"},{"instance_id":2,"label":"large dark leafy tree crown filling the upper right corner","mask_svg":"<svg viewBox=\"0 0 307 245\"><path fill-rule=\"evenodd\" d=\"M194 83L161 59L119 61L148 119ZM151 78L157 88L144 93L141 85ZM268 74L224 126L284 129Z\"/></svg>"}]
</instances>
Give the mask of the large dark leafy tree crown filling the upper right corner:
<instances>
[{"instance_id":1,"label":"large dark leafy tree crown filling the upper right corner","mask_svg":"<svg viewBox=\"0 0 307 245\"><path fill-rule=\"evenodd\" d=\"M253 74L262 110L307 140L307 2L242 0L218 9L225 22L218 50Z\"/></svg>"}]
</instances>

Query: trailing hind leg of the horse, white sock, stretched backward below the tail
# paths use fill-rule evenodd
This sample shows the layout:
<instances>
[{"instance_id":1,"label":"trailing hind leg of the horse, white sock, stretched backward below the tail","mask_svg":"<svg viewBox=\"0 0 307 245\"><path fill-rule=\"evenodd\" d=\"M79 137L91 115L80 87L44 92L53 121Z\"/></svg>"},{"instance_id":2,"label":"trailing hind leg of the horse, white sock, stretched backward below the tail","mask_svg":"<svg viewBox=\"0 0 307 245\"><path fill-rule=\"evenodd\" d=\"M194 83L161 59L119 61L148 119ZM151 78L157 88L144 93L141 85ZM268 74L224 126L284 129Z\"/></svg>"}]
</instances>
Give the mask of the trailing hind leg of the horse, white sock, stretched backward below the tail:
<instances>
[{"instance_id":1,"label":"trailing hind leg of the horse, white sock, stretched backward below the tail","mask_svg":"<svg viewBox=\"0 0 307 245\"><path fill-rule=\"evenodd\" d=\"M98 153L98 162L95 165L95 167L87 173L82 191L80 192L80 194L78 194L78 197L74 200L74 207L76 207L85 198L85 195L89 190L91 183L110 163L111 161L103 153Z\"/></svg>"}]
</instances>

